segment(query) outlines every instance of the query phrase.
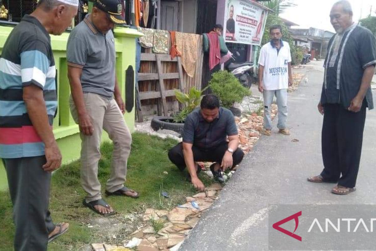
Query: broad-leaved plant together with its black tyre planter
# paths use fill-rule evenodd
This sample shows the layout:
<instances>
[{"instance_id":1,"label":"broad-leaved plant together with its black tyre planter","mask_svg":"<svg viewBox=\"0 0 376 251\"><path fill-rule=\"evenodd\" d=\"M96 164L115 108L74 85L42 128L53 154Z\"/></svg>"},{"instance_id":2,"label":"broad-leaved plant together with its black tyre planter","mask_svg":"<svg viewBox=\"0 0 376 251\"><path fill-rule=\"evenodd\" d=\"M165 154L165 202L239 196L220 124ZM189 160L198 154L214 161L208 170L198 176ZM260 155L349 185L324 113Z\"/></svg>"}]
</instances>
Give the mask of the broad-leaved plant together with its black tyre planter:
<instances>
[{"instance_id":1,"label":"broad-leaved plant together with its black tyre planter","mask_svg":"<svg viewBox=\"0 0 376 251\"><path fill-rule=\"evenodd\" d=\"M178 133L182 133L184 129L184 120L188 114L190 114L197 106L200 105L202 93L207 89L197 90L196 87L192 87L188 94L182 93L179 90L175 90L175 97L183 108L178 113L171 117L156 116L153 117L150 125L155 131L160 129L172 130Z\"/></svg>"}]
</instances>

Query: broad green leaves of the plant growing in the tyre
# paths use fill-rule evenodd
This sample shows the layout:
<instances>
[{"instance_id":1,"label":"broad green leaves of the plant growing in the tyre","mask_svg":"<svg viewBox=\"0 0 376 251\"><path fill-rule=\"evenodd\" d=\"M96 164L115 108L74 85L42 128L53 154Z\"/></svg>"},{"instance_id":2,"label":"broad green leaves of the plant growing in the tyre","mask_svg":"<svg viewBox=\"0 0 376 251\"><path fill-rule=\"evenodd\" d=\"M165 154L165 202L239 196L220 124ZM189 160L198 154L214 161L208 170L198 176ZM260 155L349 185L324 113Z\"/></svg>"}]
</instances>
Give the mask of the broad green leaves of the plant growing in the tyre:
<instances>
[{"instance_id":1,"label":"broad green leaves of the plant growing in the tyre","mask_svg":"<svg viewBox=\"0 0 376 251\"><path fill-rule=\"evenodd\" d=\"M188 94L175 90L177 101L183 105L183 109L173 116L175 123L184 123L184 120L188 114L190 114L194 108L200 105L202 93L207 88L208 87L204 88L203 90L197 90L196 87L192 87Z\"/></svg>"}]
</instances>

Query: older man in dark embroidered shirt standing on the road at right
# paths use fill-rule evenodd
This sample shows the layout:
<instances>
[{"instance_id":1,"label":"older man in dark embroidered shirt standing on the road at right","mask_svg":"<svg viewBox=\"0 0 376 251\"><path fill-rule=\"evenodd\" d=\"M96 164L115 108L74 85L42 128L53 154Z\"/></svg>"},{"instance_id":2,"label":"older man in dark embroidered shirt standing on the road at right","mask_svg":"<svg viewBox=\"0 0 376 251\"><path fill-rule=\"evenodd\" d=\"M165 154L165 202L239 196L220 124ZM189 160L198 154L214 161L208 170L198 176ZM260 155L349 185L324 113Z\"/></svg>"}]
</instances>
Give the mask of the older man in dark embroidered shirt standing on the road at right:
<instances>
[{"instance_id":1,"label":"older man in dark embroidered shirt standing on the road at right","mask_svg":"<svg viewBox=\"0 0 376 251\"><path fill-rule=\"evenodd\" d=\"M324 61L325 75L318 110L324 114L322 155L324 170L311 182L337 183L335 194L355 191L366 108L373 109L371 80L376 65L376 41L370 30L352 21L348 1L331 10L336 30Z\"/></svg>"}]
</instances>

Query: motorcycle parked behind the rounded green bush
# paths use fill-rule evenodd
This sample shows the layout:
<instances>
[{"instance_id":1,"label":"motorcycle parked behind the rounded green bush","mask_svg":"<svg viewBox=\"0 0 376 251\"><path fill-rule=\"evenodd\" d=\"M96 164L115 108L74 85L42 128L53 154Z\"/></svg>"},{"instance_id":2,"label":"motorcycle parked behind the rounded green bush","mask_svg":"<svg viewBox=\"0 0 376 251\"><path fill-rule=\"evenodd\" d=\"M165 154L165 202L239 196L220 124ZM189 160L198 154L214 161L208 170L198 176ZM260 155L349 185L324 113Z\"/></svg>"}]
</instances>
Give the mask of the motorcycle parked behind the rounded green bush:
<instances>
[{"instance_id":1,"label":"motorcycle parked behind the rounded green bush","mask_svg":"<svg viewBox=\"0 0 376 251\"><path fill-rule=\"evenodd\" d=\"M240 56L239 52L236 52L238 56ZM235 61L236 58L232 55L232 61ZM246 87L251 88L253 82L253 62L244 62L244 63L236 63L230 62L226 65L226 70L231 72L237 79L239 79L240 83Z\"/></svg>"}]
</instances>

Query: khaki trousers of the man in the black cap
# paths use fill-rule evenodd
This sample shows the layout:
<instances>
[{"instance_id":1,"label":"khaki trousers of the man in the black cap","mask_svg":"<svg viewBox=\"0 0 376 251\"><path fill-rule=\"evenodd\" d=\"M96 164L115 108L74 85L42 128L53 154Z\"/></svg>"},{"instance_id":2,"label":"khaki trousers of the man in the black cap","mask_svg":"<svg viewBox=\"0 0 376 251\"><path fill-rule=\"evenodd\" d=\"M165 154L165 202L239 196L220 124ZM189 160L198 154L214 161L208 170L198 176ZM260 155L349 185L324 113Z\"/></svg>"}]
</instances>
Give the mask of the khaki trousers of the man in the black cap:
<instances>
[{"instance_id":1,"label":"khaki trousers of the man in the black cap","mask_svg":"<svg viewBox=\"0 0 376 251\"><path fill-rule=\"evenodd\" d=\"M83 93L83 99L94 128L91 136L80 133L82 140L81 184L83 190L87 193L86 202L91 202L102 198L98 180L102 129L108 133L109 138L114 143L111 175L106 183L106 190L109 192L115 192L124 187L132 136L114 98L104 97L96 93ZM70 110L74 121L78 124L77 110L72 96L70 97Z\"/></svg>"}]
</instances>

